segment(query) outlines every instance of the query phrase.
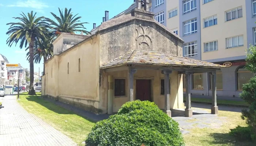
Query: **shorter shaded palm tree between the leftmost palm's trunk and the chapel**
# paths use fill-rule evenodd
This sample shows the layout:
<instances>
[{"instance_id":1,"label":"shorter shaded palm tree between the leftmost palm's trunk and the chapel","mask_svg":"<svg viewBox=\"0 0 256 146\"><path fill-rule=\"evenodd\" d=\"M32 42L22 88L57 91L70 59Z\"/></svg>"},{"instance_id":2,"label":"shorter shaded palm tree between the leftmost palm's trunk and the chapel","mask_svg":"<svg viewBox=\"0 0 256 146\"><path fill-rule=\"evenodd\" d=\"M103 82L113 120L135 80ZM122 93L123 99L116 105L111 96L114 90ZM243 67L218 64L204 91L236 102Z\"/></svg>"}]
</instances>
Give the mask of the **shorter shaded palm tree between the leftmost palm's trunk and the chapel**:
<instances>
[{"instance_id":1,"label":"shorter shaded palm tree between the leftmost palm's trunk and the chapel","mask_svg":"<svg viewBox=\"0 0 256 146\"><path fill-rule=\"evenodd\" d=\"M34 45L34 62L36 64L40 63L41 59L44 59L44 73L45 73L45 61L53 56L53 45L52 42L54 41L54 36L39 39L38 45ZM29 47L27 47L29 49ZM26 50L27 50L26 49ZM30 61L29 52L27 53L27 60Z\"/></svg>"}]
</instances>

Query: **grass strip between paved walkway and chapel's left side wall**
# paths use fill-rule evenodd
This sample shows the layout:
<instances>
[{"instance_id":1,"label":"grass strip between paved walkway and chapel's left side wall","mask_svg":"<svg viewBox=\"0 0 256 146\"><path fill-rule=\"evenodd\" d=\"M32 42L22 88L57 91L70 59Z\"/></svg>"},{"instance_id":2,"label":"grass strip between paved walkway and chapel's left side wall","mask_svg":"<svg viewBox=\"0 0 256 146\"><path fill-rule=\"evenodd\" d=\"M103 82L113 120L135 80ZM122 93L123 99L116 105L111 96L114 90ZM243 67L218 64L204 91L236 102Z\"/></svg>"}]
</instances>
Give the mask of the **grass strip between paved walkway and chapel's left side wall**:
<instances>
[{"instance_id":1,"label":"grass strip between paved walkway and chapel's left side wall","mask_svg":"<svg viewBox=\"0 0 256 146\"><path fill-rule=\"evenodd\" d=\"M27 93L22 93L19 97L20 100L18 100L18 103L26 111L38 116L46 123L64 133L78 145L82 146L82 142L86 139L86 136L95 124L76 115L72 111L38 98L41 97L41 93L37 93L37 96L28 96Z\"/></svg>"}]
</instances>

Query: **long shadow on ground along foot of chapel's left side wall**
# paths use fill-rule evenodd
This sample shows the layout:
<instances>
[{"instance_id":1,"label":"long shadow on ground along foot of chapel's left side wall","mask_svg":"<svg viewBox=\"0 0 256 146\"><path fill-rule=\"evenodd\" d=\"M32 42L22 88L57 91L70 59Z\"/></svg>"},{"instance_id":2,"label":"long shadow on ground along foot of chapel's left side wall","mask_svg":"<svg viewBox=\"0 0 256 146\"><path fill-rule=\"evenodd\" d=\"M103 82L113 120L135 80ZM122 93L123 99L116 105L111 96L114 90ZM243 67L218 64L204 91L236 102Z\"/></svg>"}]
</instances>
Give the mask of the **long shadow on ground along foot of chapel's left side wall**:
<instances>
[{"instance_id":1,"label":"long shadow on ground along foot of chapel's left side wall","mask_svg":"<svg viewBox=\"0 0 256 146\"><path fill-rule=\"evenodd\" d=\"M27 95L27 94L23 94ZM75 114L83 117L90 122L96 123L99 120L107 119L109 115L96 115L93 112L82 110L81 108L73 107L72 105L61 103L60 101L54 101L52 99L43 99L41 96L29 96L26 97L28 101L36 102L48 110L56 112L57 114Z\"/></svg>"}]
</instances>

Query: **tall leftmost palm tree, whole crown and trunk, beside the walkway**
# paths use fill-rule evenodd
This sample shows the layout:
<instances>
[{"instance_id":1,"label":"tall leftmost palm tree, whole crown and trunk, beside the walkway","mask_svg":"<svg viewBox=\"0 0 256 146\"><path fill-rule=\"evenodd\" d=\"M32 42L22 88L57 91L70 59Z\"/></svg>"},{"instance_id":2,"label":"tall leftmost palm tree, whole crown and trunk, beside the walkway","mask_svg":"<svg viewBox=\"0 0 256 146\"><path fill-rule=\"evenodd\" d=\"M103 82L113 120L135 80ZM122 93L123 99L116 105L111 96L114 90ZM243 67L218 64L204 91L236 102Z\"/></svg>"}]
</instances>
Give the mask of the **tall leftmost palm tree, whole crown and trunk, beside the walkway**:
<instances>
[{"instance_id":1,"label":"tall leftmost palm tree, whole crown and trunk, beside the walkway","mask_svg":"<svg viewBox=\"0 0 256 146\"><path fill-rule=\"evenodd\" d=\"M27 47L27 44L29 43L29 56L30 58L34 58L34 45L37 46L37 42L39 38L45 38L47 34L49 34L49 31L47 29L47 26L49 25L46 22L43 22L42 19L44 17L38 17L36 18L37 13L33 14L33 11L31 13L28 13L27 16L22 12L20 14L22 17L14 17L14 19L18 19L20 22L15 23L7 23L6 25L10 25L10 28L6 32L7 35L9 35L9 38L7 39L7 45L12 46L13 43L17 45L18 42L20 42L20 49L22 49L24 43L25 47ZM35 95L34 90L34 62L33 60L30 60L30 90L29 95Z\"/></svg>"}]
</instances>

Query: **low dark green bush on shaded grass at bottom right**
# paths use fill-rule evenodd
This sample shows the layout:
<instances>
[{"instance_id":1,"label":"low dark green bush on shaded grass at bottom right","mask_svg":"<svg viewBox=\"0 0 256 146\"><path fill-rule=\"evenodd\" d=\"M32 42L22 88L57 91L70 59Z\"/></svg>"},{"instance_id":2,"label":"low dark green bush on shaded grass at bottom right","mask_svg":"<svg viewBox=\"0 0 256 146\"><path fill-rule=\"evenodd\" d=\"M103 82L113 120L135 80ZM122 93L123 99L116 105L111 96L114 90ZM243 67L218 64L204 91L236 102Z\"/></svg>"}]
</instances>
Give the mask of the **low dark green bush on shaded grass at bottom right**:
<instances>
[{"instance_id":1,"label":"low dark green bush on shaded grass at bottom right","mask_svg":"<svg viewBox=\"0 0 256 146\"><path fill-rule=\"evenodd\" d=\"M251 127L241 127L237 126L234 129L230 129L230 135L236 137L240 141L251 141Z\"/></svg>"}]
</instances>

